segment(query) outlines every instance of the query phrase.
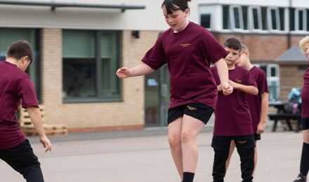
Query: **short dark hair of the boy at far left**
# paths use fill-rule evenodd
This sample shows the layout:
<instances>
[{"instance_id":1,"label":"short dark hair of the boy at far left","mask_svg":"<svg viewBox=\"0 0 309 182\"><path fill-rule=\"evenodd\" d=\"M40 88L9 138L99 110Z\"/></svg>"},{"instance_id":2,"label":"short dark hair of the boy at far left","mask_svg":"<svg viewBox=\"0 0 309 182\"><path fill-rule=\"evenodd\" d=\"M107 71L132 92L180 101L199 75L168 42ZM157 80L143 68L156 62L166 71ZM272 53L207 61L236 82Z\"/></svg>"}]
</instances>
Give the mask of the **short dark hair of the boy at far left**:
<instances>
[{"instance_id":1,"label":"short dark hair of the boy at far left","mask_svg":"<svg viewBox=\"0 0 309 182\"><path fill-rule=\"evenodd\" d=\"M6 57L12 57L19 60L25 56L28 57L30 63L33 61L34 54L28 41L15 41L8 46Z\"/></svg>"}]
</instances>

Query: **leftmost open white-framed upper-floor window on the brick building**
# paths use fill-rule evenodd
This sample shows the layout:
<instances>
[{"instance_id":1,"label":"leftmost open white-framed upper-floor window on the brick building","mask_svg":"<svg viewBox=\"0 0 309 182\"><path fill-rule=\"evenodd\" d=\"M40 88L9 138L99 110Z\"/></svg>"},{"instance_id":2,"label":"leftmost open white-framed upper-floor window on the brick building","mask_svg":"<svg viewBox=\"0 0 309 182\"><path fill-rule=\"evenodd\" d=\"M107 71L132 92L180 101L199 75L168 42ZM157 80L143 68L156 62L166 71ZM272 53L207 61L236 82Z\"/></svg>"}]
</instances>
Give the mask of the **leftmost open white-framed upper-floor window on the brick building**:
<instances>
[{"instance_id":1,"label":"leftmost open white-framed upper-floor window on the brick building","mask_svg":"<svg viewBox=\"0 0 309 182\"><path fill-rule=\"evenodd\" d=\"M230 22L232 29L244 29L244 18L241 6L230 6Z\"/></svg>"}]
</instances>

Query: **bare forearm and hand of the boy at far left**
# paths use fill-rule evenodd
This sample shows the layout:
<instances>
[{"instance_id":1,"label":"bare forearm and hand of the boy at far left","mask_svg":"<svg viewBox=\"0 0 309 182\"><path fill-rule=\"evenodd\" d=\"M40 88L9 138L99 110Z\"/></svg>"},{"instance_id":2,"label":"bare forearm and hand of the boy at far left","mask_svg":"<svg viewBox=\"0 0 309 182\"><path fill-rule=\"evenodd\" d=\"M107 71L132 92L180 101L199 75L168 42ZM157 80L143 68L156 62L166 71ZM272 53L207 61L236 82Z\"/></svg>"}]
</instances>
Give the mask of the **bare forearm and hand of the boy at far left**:
<instances>
[{"instance_id":1,"label":"bare forearm and hand of the boy at far left","mask_svg":"<svg viewBox=\"0 0 309 182\"><path fill-rule=\"evenodd\" d=\"M27 111L35 130L39 134L39 139L45 148L45 152L51 151L51 141L45 135L40 109L35 106L29 106Z\"/></svg>"}]
</instances>

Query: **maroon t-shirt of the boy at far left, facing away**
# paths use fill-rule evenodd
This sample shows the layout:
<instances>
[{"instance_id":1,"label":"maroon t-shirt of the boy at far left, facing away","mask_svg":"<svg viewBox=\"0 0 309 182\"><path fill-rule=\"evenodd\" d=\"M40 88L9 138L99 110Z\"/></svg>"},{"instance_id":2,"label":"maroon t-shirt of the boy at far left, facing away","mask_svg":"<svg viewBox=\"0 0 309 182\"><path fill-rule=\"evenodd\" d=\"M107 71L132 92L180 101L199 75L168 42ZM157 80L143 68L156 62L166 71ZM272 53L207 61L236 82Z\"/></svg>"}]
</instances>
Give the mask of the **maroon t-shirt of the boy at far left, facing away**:
<instances>
[{"instance_id":1,"label":"maroon t-shirt of the boy at far left, facing away","mask_svg":"<svg viewBox=\"0 0 309 182\"><path fill-rule=\"evenodd\" d=\"M0 62L0 73L0 149L3 149L26 140L16 118L20 100L23 108L39 104L27 73L9 62Z\"/></svg>"}]
</instances>

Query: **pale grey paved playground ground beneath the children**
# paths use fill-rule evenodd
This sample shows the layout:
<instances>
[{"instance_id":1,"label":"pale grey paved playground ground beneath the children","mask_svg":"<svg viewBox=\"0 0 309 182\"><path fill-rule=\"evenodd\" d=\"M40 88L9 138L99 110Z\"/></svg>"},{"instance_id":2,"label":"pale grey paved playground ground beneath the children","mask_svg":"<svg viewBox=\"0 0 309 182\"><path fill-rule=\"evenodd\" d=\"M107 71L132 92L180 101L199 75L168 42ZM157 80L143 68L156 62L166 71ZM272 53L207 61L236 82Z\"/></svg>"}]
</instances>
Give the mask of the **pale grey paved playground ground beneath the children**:
<instances>
[{"instance_id":1,"label":"pale grey paved playground ground beneath the children","mask_svg":"<svg viewBox=\"0 0 309 182\"><path fill-rule=\"evenodd\" d=\"M278 130L266 132L258 142L259 162L254 181L291 182L298 174L301 133ZM208 127L198 138L196 182L211 181L211 134ZM46 182L179 182L166 129L51 137L51 153L44 153L37 138L29 139L41 161ZM0 181L24 181L2 161L0 172ZM233 155L225 181L241 181L237 153Z\"/></svg>"}]
</instances>

